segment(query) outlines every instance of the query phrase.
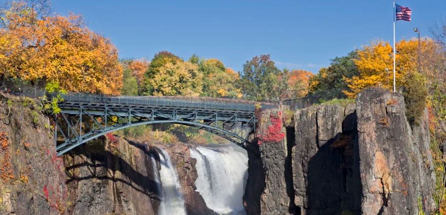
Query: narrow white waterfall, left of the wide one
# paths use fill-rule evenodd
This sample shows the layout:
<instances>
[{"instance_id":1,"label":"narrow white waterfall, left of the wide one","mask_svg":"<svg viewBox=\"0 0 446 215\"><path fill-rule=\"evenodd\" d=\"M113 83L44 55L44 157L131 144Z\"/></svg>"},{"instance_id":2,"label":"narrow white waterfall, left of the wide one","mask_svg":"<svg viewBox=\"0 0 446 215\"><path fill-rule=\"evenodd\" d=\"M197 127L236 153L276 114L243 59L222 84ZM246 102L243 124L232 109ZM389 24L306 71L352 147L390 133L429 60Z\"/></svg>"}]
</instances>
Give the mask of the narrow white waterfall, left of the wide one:
<instances>
[{"instance_id":1,"label":"narrow white waterfall, left of the wide one","mask_svg":"<svg viewBox=\"0 0 446 215\"><path fill-rule=\"evenodd\" d=\"M162 194L158 214L186 215L184 198L180 191L181 187L175 166L172 165L166 151L161 149L161 153L162 155L159 155L159 163L161 164L159 176L161 178Z\"/></svg>"}]
</instances>

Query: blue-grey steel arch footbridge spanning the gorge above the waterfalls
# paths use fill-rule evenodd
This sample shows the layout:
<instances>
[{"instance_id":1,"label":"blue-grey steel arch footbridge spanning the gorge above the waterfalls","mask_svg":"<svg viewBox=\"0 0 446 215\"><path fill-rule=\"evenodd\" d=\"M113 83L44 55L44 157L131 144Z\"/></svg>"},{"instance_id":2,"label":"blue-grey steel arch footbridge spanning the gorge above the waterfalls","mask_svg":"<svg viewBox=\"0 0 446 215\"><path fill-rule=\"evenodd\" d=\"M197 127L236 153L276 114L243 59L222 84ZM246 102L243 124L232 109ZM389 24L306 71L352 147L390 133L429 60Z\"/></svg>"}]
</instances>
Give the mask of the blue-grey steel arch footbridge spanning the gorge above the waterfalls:
<instances>
[{"instance_id":1,"label":"blue-grey steel arch footbridge spanning the gorge above the waterfalls","mask_svg":"<svg viewBox=\"0 0 446 215\"><path fill-rule=\"evenodd\" d=\"M52 96L49 96L50 98ZM255 103L193 97L64 94L54 116L57 155L101 135L138 125L173 123L217 134L243 148L255 132ZM262 103L262 108L275 108Z\"/></svg>"}]
</instances>

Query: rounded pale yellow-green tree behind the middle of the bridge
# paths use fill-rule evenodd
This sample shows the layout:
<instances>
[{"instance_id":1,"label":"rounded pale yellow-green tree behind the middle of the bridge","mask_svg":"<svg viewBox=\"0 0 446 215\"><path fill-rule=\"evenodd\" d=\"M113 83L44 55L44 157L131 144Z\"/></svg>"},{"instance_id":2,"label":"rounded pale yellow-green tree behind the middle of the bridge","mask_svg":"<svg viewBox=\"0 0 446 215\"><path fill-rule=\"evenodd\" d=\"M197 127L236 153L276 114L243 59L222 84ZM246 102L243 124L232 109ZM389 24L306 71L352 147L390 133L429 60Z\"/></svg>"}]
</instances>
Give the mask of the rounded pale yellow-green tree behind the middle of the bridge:
<instances>
[{"instance_id":1,"label":"rounded pale yellow-green tree behind the middle of the bridge","mask_svg":"<svg viewBox=\"0 0 446 215\"><path fill-rule=\"evenodd\" d=\"M198 66L169 53L155 54L144 74L145 95L198 96L202 90L203 75Z\"/></svg>"}]
</instances>

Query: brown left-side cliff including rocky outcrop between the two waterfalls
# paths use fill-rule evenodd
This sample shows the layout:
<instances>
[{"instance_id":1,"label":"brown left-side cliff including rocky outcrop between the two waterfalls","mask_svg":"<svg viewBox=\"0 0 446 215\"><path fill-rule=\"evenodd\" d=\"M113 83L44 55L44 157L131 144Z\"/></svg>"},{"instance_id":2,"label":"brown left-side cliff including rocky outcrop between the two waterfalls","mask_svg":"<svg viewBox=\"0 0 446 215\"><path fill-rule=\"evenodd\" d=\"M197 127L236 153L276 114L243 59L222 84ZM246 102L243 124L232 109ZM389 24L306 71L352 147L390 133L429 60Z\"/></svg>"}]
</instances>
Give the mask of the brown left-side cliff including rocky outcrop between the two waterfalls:
<instances>
[{"instance_id":1,"label":"brown left-side cliff including rocky outcrop between the two waterfalls","mask_svg":"<svg viewBox=\"0 0 446 215\"><path fill-rule=\"evenodd\" d=\"M107 134L57 157L41 105L8 95L0 100L0 214L155 215L159 148L177 167L188 214L214 214L194 191L188 146L149 147Z\"/></svg>"}]
</instances>

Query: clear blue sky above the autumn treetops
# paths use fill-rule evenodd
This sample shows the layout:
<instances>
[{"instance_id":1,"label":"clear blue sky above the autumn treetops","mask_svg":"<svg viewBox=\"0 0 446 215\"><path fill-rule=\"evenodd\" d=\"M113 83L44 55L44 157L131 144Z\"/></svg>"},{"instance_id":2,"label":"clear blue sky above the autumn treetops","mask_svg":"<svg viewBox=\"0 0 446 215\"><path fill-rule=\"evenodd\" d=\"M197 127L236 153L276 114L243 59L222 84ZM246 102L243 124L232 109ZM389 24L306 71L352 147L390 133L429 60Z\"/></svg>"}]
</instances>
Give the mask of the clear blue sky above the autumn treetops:
<instances>
[{"instance_id":1,"label":"clear blue sky above the autumn treetops","mask_svg":"<svg viewBox=\"0 0 446 215\"><path fill-rule=\"evenodd\" d=\"M397 22L397 40L415 36L413 27L425 36L446 18L446 0L397 3L413 11L412 22ZM253 56L271 54L281 69L317 73L335 56L393 37L391 0L53 0L53 6L63 15L82 14L120 57L195 53L237 71Z\"/></svg>"}]
</instances>

